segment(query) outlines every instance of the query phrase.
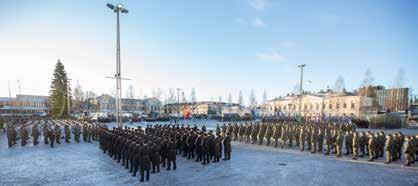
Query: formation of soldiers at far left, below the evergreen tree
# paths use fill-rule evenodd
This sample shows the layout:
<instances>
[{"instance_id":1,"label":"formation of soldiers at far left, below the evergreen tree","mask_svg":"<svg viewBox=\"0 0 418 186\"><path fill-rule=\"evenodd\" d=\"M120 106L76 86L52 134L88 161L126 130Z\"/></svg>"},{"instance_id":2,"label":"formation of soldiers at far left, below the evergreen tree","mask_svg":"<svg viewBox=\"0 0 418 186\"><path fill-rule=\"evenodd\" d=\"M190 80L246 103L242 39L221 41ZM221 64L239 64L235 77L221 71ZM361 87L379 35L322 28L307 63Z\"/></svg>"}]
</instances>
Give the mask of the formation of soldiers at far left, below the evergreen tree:
<instances>
[{"instance_id":1,"label":"formation of soldiers at far left, below the evergreen tree","mask_svg":"<svg viewBox=\"0 0 418 186\"><path fill-rule=\"evenodd\" d=\"M7 126L8 146L11 148L16 145L19 139L21 146L26 146L30 137L34 146L38 145L40 138L43 137L43 142L51 148L55 143L61 144L61 139L64 139L66 143L71 143L72 135L77 143L80 142L81 135L83 135L84 142L91 142L98 140L100 125L73 120L29 120L20 126L17 123L9 124Z\"/></svg>"}]
</instances>

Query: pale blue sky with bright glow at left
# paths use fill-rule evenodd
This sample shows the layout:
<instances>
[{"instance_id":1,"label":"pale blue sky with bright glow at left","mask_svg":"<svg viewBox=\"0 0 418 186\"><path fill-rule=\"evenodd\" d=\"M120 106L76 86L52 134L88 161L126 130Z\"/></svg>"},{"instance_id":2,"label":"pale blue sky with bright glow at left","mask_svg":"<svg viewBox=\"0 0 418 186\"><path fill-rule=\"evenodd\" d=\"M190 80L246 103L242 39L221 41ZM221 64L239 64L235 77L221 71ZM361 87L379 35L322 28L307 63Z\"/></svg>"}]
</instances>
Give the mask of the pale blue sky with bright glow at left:
<instances>
[{"instance_id":1,"label":"pale blue sky with bright glow at left","mask_svg":"<svg viewBox=\"0 0 418 186\"><path fill-rule=\"evenodd\" d=\"M114 81L115 15L106 3L122 3L122 73L137 96L155 88L196 88L199 100L248 101L266 90L273 98L298 83L305 89L361 85L367 68L375 84L418 90L418 1L4 1L0 6L0 96L48 94L60 58L84 90L108 93ZM123 91L125 92L125 91ZM416 91L415 91L416 92Z\"/></svg>"}]
</instances>

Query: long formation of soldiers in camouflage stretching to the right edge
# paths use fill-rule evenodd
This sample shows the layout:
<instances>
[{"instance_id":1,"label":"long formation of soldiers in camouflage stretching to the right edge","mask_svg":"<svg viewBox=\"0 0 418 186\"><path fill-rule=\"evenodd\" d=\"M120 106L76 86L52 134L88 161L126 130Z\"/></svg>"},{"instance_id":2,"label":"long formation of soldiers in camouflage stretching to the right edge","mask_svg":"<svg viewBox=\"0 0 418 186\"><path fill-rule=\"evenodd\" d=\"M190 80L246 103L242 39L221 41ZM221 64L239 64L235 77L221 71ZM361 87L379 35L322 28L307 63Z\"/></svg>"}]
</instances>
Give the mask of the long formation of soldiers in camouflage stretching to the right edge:
<instances>
[{"instance_id":1,"label":"long formation of soldiers in camouflage stretching to the right edge","mask_svg":"<svg viewBox=\"0 0 418 186\"><path fill-rule=\"evenodd\" d=\"M391 163L401 158L405 166L418 161L418 135L405 136L402 132L358 132L353 124L296 123L267 120L257 123L229 123L217 125L217 132L231 133L234 141L252 144L272 144L280 148L296 146L300 151L351 155L352 159L368 156L369 161L386 158ZM403 156L402 156L403 155Z\"/></svg>"}]
</instances>

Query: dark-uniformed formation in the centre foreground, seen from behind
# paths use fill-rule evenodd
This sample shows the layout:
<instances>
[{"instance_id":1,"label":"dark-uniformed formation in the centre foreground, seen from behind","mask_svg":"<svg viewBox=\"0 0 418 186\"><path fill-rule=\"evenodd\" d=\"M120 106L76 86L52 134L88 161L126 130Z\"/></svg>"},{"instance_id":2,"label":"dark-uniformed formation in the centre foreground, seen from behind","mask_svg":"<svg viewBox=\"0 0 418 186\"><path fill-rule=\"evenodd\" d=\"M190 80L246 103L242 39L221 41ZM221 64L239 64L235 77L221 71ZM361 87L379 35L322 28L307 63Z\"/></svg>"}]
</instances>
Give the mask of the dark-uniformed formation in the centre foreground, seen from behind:
<instances>
[{"instance_id":1,"label":"dark-uniformed formation in the centre foreground, seen from behind","mask_svg":"<svg viewBox=\"0 0 418 186\"><path fill-rule=\"evenodd\" d=\"M129 169L133 176L140 171L140 181L149 181L151 173L160 172L160 165L176 170L176 155L207 165L231 158L231 136L214 134L195 125L148 125L144 130L107 127L99 129L99 144L103 153Z\"/></svg>"}]
</instances>

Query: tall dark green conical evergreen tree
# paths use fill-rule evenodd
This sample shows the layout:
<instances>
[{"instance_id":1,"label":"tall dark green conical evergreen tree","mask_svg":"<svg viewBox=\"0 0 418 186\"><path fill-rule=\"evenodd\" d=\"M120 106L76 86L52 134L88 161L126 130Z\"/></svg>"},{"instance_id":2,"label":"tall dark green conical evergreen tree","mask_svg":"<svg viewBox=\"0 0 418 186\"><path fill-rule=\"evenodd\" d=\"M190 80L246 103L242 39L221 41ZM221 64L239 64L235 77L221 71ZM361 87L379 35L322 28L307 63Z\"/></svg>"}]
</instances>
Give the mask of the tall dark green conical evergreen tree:
<instances>
[{"instance_id":1,"label":"tall dark green conical evergreen tree","mask_svg":"<svg viewBox=\"0 0 418 186\"><path fill-rule=\"evenodd\" d=\"M53 118L62 119L68 116L68 105L71 105L71 90L68 88L68 77L64 65L58 59L50 89L51 114Z\"/></svg>"}]
</instances>

